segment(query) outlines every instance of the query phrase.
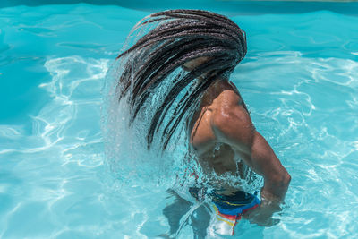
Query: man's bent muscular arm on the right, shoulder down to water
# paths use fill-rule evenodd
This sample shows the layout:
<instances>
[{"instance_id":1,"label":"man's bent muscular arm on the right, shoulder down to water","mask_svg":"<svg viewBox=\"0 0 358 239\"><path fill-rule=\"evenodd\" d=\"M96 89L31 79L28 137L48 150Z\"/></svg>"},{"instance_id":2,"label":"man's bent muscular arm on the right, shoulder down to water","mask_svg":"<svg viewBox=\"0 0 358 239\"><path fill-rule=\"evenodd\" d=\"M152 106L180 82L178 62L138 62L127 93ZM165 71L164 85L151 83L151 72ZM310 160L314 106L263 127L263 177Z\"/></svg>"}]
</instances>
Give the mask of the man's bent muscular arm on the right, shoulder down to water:
<instances>
[{"instance_id":1,"label":"man's bent muscular arm on the right, shoulder down to water","mask_svg":"<svg viewBox=\"0 0 358 239\"><path fill-rule=\"evenodd\" d=\"M253 171L263 176L262 205L269 205L272 215L274 209L277 210L284 201L291 180L286 168L268 142L256 131L250 115L242 105L228 107L228 110L215 115L212 125L217 140L231 145Z\"/></svg>"}]
</instances>

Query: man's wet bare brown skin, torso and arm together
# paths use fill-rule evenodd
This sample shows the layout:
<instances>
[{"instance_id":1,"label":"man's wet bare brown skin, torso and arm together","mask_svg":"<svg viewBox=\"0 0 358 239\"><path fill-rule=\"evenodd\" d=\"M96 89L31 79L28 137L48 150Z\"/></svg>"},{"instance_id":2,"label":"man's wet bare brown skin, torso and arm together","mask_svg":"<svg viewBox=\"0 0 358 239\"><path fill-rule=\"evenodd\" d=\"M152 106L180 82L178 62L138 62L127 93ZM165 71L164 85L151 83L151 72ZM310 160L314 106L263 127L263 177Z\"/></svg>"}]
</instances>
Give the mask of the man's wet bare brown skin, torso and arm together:
<instances>
[{"instance_id":1,"label":"man's wet bare brown skin, torso and arm together","mask_svg":"<svg viewBox=\"0 0 358 239\"><path fill-rule=\"evenodd\" d=\"M184 67L190 69L205 60L208 59L196 59ZM205 77L201 80L205 80ZM200 107L192 117L190 130L192 149L199 158L204 172L214 170L217 175L226 172L234 175L238 170L239 174L241 172L241 176L245 177L243 171L247 170L244 167L248 166L263 176L260 207L251 210L245 216L253 223L268 225L270 217L285 199L291 176L268 142L256 131L234 83L227 79L217 79L216 83L209 87L201 98ZM236 166L235 156L243 160L241 166ZM223 194L238 190L226 184L220 184L218 188Z\"/></svg>"}]
</instances>

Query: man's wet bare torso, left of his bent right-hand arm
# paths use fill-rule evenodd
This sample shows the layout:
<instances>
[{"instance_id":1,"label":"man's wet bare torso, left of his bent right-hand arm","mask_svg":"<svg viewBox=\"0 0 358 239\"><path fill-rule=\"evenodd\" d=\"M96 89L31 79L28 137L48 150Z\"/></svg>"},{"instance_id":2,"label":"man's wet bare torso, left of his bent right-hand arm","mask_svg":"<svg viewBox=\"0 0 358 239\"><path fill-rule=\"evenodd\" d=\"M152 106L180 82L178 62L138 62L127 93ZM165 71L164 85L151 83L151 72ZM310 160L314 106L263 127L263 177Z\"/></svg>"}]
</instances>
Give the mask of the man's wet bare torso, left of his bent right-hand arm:
<instances>
[{"instance_id":1,"label":"man's wet bare torso, left of his bent right-hand arm","mask_svg":"<svg viewBox=\"0 0 358 239\"><path fill-rule=\"evenodd\" d=\"M234 106L246 107L233 84L228 81L220 81L209 92L214 99L206 100L192 118L191 146L199 158L204 172L214 170L217 175L231 173L246 178L248 168L243 161L238 161L235 150L225 141L220 141L215 130L215 118L217 115L225 115L227 110ZM246 114L248 114L246 112Z\"/></svg>"}]
</instances>

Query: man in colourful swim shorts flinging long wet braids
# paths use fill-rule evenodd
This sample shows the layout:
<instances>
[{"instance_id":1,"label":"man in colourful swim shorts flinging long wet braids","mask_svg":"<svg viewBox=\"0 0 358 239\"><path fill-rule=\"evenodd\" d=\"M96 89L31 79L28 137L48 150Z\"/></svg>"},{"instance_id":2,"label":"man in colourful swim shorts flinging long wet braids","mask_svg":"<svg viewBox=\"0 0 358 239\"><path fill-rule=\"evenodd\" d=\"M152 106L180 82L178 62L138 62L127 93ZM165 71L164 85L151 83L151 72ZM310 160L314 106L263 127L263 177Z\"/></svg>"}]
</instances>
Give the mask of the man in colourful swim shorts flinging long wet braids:
<instances>
[{"instance_id":1,"label":"man in colourful swim shorts flinging long wet braids","mask_svg":"<svg viewBox=\"0 0 358 239\"><path fill-rule=\"evenodd\" d=\"M250 180L247 172L253 170L264 178L261 201L226 182L209 182L211 192L200 186L190 189L194 198L205 194L214 203L217 217L226 222L220 233L232 234L242 216L270 225L291 178L255 130L243 98L229 81L246 55L243 30L217 13L172 10L149 15L135 32L144 35L117 57L124 65L118 98L126 99L130 122L138 115L149 119L148 149L155 140L166 150L178 125L186 123L190 150L204 173Z\"/></svg>"}]
</instances>

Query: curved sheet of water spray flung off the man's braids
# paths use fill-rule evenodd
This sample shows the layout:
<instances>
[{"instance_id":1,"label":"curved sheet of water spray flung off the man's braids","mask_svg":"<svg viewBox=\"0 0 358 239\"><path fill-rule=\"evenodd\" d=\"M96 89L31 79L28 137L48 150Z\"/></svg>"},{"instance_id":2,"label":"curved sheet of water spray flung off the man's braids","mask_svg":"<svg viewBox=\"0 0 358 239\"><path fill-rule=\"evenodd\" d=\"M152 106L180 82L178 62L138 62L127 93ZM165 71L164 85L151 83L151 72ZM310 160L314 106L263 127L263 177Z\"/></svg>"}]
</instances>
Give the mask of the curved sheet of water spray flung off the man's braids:
<instances>
[{"instance_id":1,"label":"curved sheet of water spray flung off the man's braids","mask_svg":"<svg viewBox=\"0 0 358 239\"><path fill-rule=\"evenodd\" d=\"M146 21L146 24L142 22ZM139 39L148 34L153 29L160 29L161 24L168 20L150 21L144 18L135 25L126 38L122 52L132 47ZM237 26L236 26L237 27ZM238 28L238 27L237 27ZM240 29L238 33L242 34ZM159 46L159 45L158 45ZM214 172L203 174L200 165L197 163L195 155L191 152L188 145L187 124L191 118L193 110L200 103L200 94L192 101L192 107L184 112L183 120L175 128L171 136L171 141L166 145L166 150L162 150L163 141L160 136L165 135L166 127L156 128L154 140L148 149L147 132L150 131L152 119L161 102L165 102L166 97L177 79L183 79L188 73L179 66L169 73L160 84L154 88L155 92L150 92L149 97L141 102L142 106L138 113L135 113L133 121L133 107L131 107L133 86L135 86L136 73L148 58L149 54L156 50L143 47L135 49L120 58L117 58L110 67L106 85L103 89L103 132L107 155L107 166L115 175L115 178L125 184L146 185L173 188L175 185L177 192L185 192L192 184L211 188L213 184L241 185L241 188L252 191L257 188L260 182L251 174L249 181L259 182L258 184L248 184L238 175L216 175ZM237 63L236 63L237 64ZM122 77L122 79L121 79ZM124 79L125 78L125 79ZM178 115L178 108L183 104L183 98L195 92L198 84L202 82L198 79L190 81L186 87L173 99L170 107L165 108L166 114L161 115L158 120L162 125L169 125L173 120L173 115ZM129 87L128 90L124 88ZM128 92L123 95L123 92ZM179 106L179 107L178 107ZM134 107L135 108L135 107ZM193 174L194 173L194 174ZM193 176L195 175L195 176ZM194 177L194 178L193 178ZM183 193L184 194L184 193Z\"/></svg>"}]
</instances>

